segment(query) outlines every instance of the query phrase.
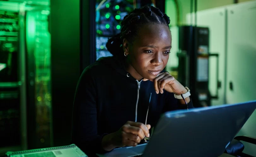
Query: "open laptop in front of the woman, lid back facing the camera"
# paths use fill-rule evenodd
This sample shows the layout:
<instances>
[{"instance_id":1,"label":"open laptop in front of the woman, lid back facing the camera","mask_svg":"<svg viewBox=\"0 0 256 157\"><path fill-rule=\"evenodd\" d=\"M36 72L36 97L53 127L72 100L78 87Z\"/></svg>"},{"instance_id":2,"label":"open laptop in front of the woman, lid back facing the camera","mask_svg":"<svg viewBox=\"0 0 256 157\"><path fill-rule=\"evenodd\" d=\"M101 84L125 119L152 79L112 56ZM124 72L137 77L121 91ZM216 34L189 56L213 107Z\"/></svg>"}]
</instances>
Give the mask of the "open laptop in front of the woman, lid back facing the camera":
<instances>
[{"instance_id":1,"label":"open laptop in front of the woman, lid back facing the camera","mask_svg":"<svg viewBox=\"0 0 256 157\"><path fill-rule=\"evenodd\" d=\"M149 143L113 149L100 157L197 156L224 153L256 108L256 101L166 112Z\"/></svg>"}]
</instances>

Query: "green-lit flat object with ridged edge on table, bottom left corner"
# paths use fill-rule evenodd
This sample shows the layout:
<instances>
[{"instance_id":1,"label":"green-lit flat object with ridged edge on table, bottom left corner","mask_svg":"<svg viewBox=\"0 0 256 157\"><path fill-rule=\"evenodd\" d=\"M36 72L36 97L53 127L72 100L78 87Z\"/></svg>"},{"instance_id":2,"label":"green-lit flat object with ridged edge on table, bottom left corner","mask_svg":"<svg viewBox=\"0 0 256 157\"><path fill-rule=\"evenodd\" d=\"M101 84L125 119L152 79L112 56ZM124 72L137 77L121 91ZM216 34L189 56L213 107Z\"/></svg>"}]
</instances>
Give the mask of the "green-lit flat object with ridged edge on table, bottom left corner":
<instances>
[{"instance_id":1,"label":"green-lit flat object with ridged edge on table, bottom left corner","mask_svg":"<svg viewBox=\"0 0 256 157\"><path fill-rule=\"evenodd\" d=\"M7 152L8 157L88 157L75 144L62 147Z\"/></svg>"}]
</instances>

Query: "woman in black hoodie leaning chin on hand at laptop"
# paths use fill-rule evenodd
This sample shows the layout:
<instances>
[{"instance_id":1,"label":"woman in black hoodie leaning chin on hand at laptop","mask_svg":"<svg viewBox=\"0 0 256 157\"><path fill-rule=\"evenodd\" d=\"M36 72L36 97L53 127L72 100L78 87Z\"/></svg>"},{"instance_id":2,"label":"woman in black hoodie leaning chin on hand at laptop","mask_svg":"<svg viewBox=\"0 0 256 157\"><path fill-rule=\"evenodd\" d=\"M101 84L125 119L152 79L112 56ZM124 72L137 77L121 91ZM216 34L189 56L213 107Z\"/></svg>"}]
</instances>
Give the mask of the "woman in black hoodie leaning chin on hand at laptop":
<instances>
[{"instance_id":1,"label":"woman in black hoodie leaning chin on hand at laptop","mask_svg":"<svg viewBox=\"0 0 256 157\"><path fill-rule=\"evenodd\" d=\"M163 71L172 47L169 23L158 8L135 9L124 17L121 33L108 40L113 57L85 68L74 100L72 140L86 154L136 146L162 113L193 107L189 97L187 106L174 97L188 89Z\"/></svg>"}]
</instances>

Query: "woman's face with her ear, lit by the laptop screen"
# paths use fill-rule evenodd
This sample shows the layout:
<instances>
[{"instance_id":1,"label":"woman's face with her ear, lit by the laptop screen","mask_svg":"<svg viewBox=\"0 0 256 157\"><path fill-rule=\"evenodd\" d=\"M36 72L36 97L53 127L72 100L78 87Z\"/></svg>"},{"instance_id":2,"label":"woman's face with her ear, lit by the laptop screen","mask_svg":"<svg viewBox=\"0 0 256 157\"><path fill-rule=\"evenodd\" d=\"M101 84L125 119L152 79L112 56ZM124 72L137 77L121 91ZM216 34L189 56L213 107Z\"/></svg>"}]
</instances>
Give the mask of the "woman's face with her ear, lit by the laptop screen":
<instances>
[{"instance_id":1,"label":"woman's face with her ear, lit by the laptop screen","mask_svg":"<svg viewBox=\"0 0 256 157\"><path fill-rule=\"evenodd\" d=\"M158 24L145 25L137 32L131 44L124 40L128 61L137 75L152 80L168 62L172 47L171 32L168 26Z\"/></svg>"}]
</instances>

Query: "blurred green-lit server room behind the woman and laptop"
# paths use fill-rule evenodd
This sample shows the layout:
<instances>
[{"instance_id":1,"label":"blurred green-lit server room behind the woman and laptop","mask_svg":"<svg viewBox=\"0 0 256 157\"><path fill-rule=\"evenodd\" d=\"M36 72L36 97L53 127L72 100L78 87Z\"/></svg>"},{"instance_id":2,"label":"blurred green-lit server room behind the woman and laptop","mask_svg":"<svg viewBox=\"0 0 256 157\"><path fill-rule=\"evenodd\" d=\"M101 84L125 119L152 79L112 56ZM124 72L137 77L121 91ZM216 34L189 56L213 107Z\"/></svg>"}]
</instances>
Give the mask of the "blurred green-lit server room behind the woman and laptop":
<instances>
[{"instance_id":1,"label":"blurred green-lit server room behind the woman and laptop","mask_svg":"<svg viewBox=\"0 0 256 157\"><path fill-rule=\"evenodd\" d=\"M111 56L109 37L134 8L171 20L166 70L195 107L256 100L255 0L0 1L0 156L70 144L73 97L83 69ZM256 137L256 112L238 135ZM246 144L247 154L256 148Z\"/></svg>"}]
</instances>

